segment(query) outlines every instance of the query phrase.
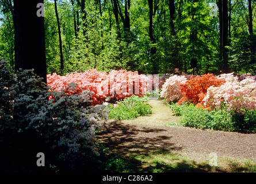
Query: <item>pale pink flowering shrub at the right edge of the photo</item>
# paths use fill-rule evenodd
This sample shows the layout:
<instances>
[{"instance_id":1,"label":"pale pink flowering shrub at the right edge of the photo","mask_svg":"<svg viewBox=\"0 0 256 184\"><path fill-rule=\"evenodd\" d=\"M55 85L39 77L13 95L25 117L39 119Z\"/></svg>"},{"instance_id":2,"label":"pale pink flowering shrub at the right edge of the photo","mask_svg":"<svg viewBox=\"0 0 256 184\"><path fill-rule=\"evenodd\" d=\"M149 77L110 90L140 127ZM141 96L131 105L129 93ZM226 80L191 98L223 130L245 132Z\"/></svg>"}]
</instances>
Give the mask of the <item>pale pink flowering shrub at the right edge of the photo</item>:
<instances>
[{"instance_id":1,"label":"pale pink flowering shrub at the right edge of the photo","mask_svg":"<svg viewBox=\"0 0 256 184\"><path fill-rule=\"evenodd\" d=\"M243 114L256 109L256 82L253 79L228 80L222 86L211 86L203 99L211 109L225 108Z\"/></svg>"}]
</instances>

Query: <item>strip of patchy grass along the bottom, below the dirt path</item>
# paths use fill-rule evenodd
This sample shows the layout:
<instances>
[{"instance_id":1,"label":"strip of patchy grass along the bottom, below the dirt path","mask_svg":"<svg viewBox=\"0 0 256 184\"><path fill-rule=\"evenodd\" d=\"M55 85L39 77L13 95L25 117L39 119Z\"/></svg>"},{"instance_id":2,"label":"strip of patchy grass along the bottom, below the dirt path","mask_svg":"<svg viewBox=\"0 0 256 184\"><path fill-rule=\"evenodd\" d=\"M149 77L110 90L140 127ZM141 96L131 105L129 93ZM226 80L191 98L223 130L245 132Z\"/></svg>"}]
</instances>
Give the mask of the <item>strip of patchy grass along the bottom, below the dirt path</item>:
<instances>
[{"instance_id":1,"label":"strip of patchy grass along the bottom, below the dirt path","mask_svg":"<svg viewBox=\"0 0 256 184\"><path fill-rule=\"evenodd\" d=\"M167 154L158 148L142 155L131 154L129 156L121 156L112 152L113 155L113 162L110 165L112 168L115 168L114 171L125 173L256 173L255 160L223 158L217 160L218 166L215 167L210 166L208 160L196 162L177 153Z\"/></svg>"}]
</instances>

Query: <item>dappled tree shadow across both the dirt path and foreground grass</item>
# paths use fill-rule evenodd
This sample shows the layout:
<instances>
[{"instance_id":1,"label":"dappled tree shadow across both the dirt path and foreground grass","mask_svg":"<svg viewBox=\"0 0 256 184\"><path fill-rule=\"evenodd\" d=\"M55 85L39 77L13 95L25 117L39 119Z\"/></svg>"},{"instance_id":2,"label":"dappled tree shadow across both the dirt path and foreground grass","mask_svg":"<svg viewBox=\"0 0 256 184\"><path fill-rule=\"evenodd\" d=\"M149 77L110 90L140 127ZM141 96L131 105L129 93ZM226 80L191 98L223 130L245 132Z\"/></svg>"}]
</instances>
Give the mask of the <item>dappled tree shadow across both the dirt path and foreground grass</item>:
<instances>
[{"instance_id":1,"label":"dappled tree shadow across both the dirt path and foreground grass","mask_svg":"<svg viewBox=\"0 0 256 184\"><path fill-rule=\"evenodd\" d=\"M209 164L196 163L191 160L178 158L175 162L163 162L161 159L152 161L153 155L173 155L174 151L181 150L175 143L171 143L171 136L162 136L158 133L165 129L155 127L137 127L113 121L109 127L98 133L100 144L108 147L114 160L119 160L123 171L128 172L226 172ZM151 133L152 137L145 134ZM110 156L109 155L109 156ZM142 159L148 157L148 162Z\"/></svg>"}]
</instances>

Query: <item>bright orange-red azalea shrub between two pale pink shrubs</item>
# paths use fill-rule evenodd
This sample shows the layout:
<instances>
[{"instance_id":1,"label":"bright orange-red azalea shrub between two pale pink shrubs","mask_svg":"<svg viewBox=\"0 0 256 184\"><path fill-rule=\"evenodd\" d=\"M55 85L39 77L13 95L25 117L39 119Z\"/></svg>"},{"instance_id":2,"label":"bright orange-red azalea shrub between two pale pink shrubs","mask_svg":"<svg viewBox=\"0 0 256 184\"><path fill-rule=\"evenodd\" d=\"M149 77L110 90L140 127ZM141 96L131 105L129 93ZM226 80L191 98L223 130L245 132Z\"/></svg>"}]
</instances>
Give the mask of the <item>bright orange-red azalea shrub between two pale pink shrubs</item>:
<instances>
[{"instance_id":1,"label":"bright orange-red azalea shrub between two pale pink shrubs","mask_svg":"<svg viewBox=\"0 0 256 184\"><path fill-rule=\"evenodd\" d=\"M210 86L221 86L225 82L224 79L218 79L216 76L213 76L213 74L205 74L196 76L195 78L193 78L192 75L189 81L179 84L183 97L179 99L178 105L183 102L199 104L202 102L202 99L204 99L207 89Z\"/></svg>"}]
</instances>

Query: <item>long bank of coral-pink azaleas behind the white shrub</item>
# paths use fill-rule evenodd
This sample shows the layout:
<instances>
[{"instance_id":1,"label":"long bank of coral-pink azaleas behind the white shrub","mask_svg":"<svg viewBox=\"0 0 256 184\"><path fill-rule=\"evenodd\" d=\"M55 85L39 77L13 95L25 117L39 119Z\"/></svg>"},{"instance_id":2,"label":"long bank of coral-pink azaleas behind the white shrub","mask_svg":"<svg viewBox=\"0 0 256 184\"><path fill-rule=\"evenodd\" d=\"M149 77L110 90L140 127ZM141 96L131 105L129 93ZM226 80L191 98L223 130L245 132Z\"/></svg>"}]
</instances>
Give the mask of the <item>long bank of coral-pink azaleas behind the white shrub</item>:
<instances>
[{"instance_id":1,"label":"long bank of coral-pink azaleas behind the white shrub","mask_svg":"<svg viewBox=\"0 0 256 184\"><path fill-rule=\"evenodd\" d=\"M127 70L112 70L106 72L87 70L83 73L76 72L60 76L56 73L47 75L48 86L52 91L62 91L73 83L75 89L66 89L64 93L81 94L83 90L92 91L91 105L102 104L108 100L120 100L131 95L143 96L146 93L146 76L139 75L137 72ZM53 98L53 97L52 97Z\"/></svg>"}]
</instances>

